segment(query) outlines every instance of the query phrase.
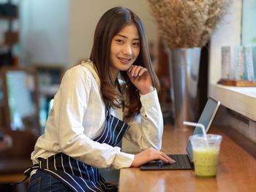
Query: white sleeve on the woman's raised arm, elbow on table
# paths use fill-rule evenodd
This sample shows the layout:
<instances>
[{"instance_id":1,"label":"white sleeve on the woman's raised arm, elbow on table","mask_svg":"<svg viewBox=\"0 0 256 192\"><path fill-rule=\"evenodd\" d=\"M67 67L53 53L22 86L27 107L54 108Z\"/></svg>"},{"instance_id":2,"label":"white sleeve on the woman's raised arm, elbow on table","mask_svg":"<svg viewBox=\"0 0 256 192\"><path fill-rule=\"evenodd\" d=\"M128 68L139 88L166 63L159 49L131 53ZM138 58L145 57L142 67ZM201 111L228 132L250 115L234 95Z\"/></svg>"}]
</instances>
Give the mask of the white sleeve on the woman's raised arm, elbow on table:
<instances>
[{"instance_id":1,"label":"white sleeve on the woman's raised arm, elbow on table","mask_svg":"<svg viewBox=\"0 0 256 192\"><path fill-rule=\"evenodd\" d=\"M127 120L130 128L125 137L134 142L141 150L148 147L160 150L162 147L163 118L157 91L140 95L140 101L142 104L140 115Z\"/></svg>"}]
</instances>

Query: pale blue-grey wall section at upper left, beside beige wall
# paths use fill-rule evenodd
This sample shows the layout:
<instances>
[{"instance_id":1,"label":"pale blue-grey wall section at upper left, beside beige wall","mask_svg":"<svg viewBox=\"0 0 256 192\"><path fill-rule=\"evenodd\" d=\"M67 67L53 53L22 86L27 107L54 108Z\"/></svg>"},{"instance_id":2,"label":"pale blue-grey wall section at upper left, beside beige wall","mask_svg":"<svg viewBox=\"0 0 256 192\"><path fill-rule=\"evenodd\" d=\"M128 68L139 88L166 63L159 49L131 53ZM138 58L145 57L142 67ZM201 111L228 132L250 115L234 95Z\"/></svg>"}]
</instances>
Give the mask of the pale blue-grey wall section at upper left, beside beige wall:
<instances>
[{"instance_id":1,"label":"pale blue-grey wall section at upper left, beside beige wall","mask_svg":"<svg viewBox=\"0 0 256 192\"><path fill-rule=\"evenodd\" d=\"M69 1L20 1L20 59L26 64L61 64L69 59Z\"/></svg>"}]
</instances>

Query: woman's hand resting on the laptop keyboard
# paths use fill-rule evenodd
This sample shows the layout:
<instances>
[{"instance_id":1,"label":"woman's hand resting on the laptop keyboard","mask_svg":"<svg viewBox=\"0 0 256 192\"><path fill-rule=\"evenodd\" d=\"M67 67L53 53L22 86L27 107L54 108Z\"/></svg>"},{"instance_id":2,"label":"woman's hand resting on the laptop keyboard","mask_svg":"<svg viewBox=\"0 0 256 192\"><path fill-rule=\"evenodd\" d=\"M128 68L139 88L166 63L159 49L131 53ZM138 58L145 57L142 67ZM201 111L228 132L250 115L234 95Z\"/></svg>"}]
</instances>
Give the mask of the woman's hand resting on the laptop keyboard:
<instances>
[{"instance_id":1,"label":"woman's hand resting on the laptop keyboard","mask_svg":"<svg viewBox=\"0 0 256 192\"><path fill-rule=\"evenodd\" d=\"M175 163L175 161L168 157L165 153L150 147L147 150L143 150L143 152L136 154L131 166L138 167L154 160L162 160L167 164Z\"/></svg>"}]
</instances>

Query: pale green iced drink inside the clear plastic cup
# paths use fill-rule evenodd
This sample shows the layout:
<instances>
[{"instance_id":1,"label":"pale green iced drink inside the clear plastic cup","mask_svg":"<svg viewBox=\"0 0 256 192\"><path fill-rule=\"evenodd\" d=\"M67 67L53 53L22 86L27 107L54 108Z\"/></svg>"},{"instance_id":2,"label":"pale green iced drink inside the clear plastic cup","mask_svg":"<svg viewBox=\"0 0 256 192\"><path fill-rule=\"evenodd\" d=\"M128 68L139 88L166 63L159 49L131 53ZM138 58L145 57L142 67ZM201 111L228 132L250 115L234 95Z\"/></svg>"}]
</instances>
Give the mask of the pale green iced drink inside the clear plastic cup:
<instances>
[{"instance_id":1,"label":"pale green iced drink inside the clear plastic cup","mask_svg":"<svg viewBox=\"0 0 256 192\"><path fill-rule=\"evenodd\" d=\"M217 174L219 149L217 147L206 147L194 149L195 174L198 177L214 177Z\"/></svg>"}]
</instances>

